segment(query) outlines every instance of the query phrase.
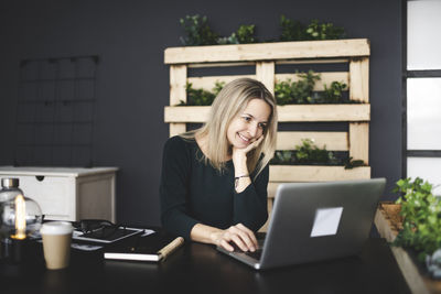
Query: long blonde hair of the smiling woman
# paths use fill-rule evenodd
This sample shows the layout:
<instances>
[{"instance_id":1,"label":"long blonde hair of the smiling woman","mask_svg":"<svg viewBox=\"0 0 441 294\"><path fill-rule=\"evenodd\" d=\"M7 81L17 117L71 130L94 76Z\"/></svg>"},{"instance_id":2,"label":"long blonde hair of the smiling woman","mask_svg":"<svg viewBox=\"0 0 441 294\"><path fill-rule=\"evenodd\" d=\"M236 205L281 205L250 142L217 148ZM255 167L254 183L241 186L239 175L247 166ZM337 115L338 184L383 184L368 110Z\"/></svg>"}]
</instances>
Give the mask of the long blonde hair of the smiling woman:
<instances>
[{"instance_id":1,"label":"long blonde hair of the smiling woman","mask_svg":"<svg viewBox=\"0 0 441 294\"><path fill-rule=\"evenodd\" d=\"M261 99L271 108L267 128L263 130L263 141L247 154L248 172L252 173L256 170L255 177L257 177L272 159L277 139L276 99L262 83L251 78L238 78L228 83L213 101L207 121L200 129L183 133L181 137L193 140L196 135L205 138L207 144L203 159L205 163L222 172L225 170L225 159L230 149L227 139L228 127L252 99Z\"/></svg>"}]
</instances>

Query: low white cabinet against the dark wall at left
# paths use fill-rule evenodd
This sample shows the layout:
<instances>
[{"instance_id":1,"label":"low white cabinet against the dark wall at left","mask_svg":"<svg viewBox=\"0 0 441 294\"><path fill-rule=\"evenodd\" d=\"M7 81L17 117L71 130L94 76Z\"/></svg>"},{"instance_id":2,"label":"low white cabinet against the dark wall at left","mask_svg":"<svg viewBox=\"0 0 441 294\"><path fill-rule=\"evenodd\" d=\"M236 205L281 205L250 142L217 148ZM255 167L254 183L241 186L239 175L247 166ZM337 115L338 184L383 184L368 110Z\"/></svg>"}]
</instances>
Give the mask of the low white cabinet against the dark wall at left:
<instances>
[{"instance_id":1,"label":"low white cabinet against the dark wall at left","mask_svg":"<svg viewBox=\"0 0 441 294\"><path fill-rule=\"evenodd\" d=\"M19 178L24 196L35 200L44 219L116 221L117 167L0 166L0 177Z\"/></svg>"}]
</instances>

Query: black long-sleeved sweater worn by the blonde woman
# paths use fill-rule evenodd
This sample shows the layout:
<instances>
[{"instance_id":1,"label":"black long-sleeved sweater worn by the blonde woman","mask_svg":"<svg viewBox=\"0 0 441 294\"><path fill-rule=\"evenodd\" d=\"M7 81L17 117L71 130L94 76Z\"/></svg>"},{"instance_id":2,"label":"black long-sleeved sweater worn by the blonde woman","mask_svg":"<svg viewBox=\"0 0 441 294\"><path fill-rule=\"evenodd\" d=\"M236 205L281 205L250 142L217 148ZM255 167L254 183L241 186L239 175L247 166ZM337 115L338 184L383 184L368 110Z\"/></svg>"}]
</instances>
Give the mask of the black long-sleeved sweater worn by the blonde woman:
<instances>
[{"instance_id":1,"label":"black long-sleeved sweater worn by the blonde woman","mask_svg":"<svg viewBox=\"0 0 441 294\"><path fill-rule=\"evenodd\" d=\"M268 165L241 193L234 188L233 161L219 173L205 164L196 141L170 138L164 145L160 185L161 220L171 233L190 240L193 226L226 229L241 222L257 231L268 218Z\"/></svg>"}]
</instances>

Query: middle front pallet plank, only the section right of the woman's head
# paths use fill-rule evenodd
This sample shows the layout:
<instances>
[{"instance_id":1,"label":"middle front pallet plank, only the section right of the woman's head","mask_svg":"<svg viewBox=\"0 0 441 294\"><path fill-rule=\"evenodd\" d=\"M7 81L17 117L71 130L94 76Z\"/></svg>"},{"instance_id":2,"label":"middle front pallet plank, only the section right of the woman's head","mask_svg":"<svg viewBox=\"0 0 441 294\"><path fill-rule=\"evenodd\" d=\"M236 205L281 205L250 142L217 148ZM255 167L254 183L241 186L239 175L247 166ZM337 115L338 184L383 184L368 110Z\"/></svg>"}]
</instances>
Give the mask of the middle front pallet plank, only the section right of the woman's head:
<instances>
[{"instance_id":1,"label":"middle front pallet plank, only the section right of the woman's head","mask_svg":"<svg viewBox=\"0 0 441 294\"><path fill-rule=\"evenodd\" d=\"M279 122L369 121L369 105L286 105L278 107Z\"/></svg>"}]
</instances>

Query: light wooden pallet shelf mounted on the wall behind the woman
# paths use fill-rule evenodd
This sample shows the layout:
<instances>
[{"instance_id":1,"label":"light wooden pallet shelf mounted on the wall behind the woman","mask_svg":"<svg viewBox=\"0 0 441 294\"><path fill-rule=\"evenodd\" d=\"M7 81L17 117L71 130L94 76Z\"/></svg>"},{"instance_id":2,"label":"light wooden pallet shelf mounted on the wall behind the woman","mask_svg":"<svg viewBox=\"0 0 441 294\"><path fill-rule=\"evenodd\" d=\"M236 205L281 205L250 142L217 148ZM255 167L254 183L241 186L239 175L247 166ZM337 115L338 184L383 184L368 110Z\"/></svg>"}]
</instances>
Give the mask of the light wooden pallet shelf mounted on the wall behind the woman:
<instances>
[{"instance_id":1,"label":"light wooden pallet shelf mounted on the wall behind the woman","mask_svg":"<svg viewBox=\"0 0 441 294\"><path fill-rule=\"evenodd\" d=\"M164 122L170 124L170 137L186 131L186 123L205 122L209 107L178 106L186 102L186 84L193 88L212 90L216 81L229 83L250 77L260 80L273 92L275 84L299 79L299 74L277 73L277 65L286 64L347 64L344 72L323 72L314 90L321 91L332 81L345 83L348 98L358 104L286 105L278 106L279 122L346 122L345 132L279 131L278 150L293 150L302 139L313 139L320 148L347 151L354 160L369 163L369 55L367 39L277 42L239 45L171 47L164 51L164 63L170 65L170 106L164 108ZM187 76L189 68L255 66L251 75ZM280 183L322 182L370 178L370 167L344 170L343 166L270 166L268 188L269 209ZM265 230L265 227L263 227Z\"/></svg>"}]
</instances>

